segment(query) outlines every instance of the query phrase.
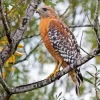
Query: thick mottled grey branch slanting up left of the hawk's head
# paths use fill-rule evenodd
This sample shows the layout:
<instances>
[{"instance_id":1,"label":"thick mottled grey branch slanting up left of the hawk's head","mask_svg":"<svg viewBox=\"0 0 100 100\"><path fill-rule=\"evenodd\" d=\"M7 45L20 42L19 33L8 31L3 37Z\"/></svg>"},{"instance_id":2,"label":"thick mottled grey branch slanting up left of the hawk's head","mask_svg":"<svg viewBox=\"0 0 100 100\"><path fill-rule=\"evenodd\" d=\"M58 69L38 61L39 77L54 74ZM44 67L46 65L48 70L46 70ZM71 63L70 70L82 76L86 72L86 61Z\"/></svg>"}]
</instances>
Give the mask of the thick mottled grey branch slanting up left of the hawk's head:
<instances>
[{"instance_id":1,"label":"thick mottled grey branch slanting up left of the hawk's head","mask_svg":"<svg viewBox=\"0 0 100 100\"><path fill-rule=\"evenodd\" d=\"M19 28L11 34L11 44L7 44L3 50L0 52L0 68L4 65L5 61L16 51L19 41L22 36L25 34L26 28L31 20L37 6L39 5L40 0L31 0L28 8L26 9L25 17L22 19L22 22Z\"/></svg>"}]
</instances>

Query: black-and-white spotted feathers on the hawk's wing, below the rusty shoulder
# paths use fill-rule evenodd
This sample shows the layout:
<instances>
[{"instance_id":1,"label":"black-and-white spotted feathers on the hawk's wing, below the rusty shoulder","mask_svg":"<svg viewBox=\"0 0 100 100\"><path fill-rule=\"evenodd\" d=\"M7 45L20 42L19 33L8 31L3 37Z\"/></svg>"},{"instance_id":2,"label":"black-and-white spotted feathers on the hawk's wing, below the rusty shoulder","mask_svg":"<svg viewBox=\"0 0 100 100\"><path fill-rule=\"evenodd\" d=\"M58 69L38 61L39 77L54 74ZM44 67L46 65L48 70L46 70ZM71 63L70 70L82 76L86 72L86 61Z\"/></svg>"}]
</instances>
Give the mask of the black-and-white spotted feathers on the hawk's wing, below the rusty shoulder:
<instances>
[{"instance_id":1,"label":"black-and-white spotted feathers on the hawk's wing, below the rusty shoulder","mask_svg":"<svg viewBox=\"0 0 100 100\"><path fill-rule=\"evenodd\" d=\"M77 53L75 44L73 44L73 41L71 40L72 37L66 37L63 33L57 30L56 26L49 28L48 35L53 47L59 52L64 60L69 64L74 63L79 52Z\"/></svg>"}]
</instances>

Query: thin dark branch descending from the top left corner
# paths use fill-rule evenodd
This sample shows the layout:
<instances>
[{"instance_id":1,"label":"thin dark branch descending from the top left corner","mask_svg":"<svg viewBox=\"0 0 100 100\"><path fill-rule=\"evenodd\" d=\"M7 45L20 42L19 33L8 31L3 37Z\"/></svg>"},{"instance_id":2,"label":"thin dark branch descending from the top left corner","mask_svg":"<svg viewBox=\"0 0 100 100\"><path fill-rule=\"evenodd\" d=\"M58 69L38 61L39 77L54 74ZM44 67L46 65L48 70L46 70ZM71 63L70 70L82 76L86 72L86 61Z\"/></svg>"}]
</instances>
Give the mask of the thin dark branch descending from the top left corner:
<instances>
[{"instance_id":1,"label":"thin dark branch descending from the top left corner","mask_svg":"<svg viewBox=\"0 0 100 100\"><path fill-rule=\"evenodd\" d=\"M11 43L10 28L8 26L8 22L7 22L7 19L4 15L4 11L3 11L3 0L0 0L0 13L1 13L1 19L2 19L3 26L5 28L5 32L6 32L8 42Z\"/></svg>"}]
</instances>

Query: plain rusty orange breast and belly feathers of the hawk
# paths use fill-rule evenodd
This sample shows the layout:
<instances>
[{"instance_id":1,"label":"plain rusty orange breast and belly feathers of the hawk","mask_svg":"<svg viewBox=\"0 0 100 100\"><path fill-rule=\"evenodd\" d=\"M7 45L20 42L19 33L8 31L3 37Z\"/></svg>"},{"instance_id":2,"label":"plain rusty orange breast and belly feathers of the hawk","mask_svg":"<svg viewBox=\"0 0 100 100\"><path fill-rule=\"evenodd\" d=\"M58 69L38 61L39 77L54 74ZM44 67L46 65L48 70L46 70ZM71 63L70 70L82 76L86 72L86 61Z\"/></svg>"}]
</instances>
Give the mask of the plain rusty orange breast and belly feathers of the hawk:
<instances>
[{"instance_id":1,"label":"plain rusty orange breast and belly feathers of the hawk","mask_svg":"<svg viewBox=\"0 0 100 100\"><path fill-rule=\"evenodd\" d=\"M43 18L40 20L40 25L39 25L40 35L42 37L43 43L45 44L47 50L51 53L51 55L55 59L59 59L61 56L59 55L58 52L55 51L48 35L48 28L51 21L52 18Z\"/></svg>"}]
</instances>

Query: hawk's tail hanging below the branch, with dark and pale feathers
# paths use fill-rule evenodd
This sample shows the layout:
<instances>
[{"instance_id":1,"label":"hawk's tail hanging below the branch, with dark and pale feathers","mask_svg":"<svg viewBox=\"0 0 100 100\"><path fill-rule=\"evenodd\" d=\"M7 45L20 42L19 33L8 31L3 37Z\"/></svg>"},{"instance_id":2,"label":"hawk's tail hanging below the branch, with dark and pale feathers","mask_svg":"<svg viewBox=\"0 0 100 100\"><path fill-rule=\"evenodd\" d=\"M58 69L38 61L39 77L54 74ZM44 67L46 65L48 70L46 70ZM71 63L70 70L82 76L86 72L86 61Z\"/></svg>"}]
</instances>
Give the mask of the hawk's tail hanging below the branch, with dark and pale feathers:
<instances>
[{"instance_id":1,"label":"hawk's tail hanging below the branch, with dark and pale feathers","mask_svg":"<svg viewBox=\"0 0 100 100\"><path fill-rule=\"evenodd\" d=\"M69 75L71 76L71 78L75 84L76 94L79 95L79 87L80 87L81 83L83 82L83 77L80 72L80 69L77 68L77 69L69 72Z\"/></svg>"}]
</instances>

